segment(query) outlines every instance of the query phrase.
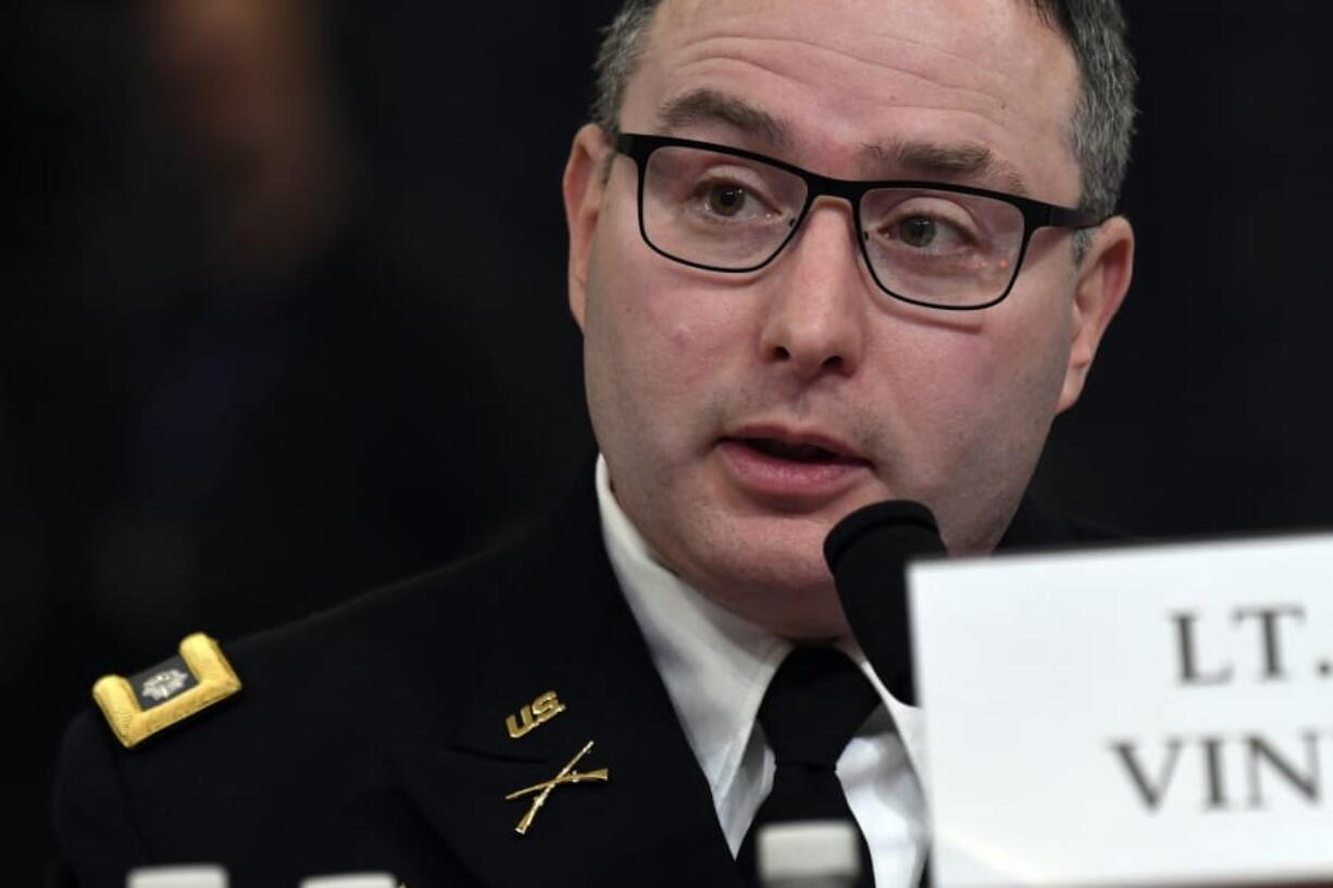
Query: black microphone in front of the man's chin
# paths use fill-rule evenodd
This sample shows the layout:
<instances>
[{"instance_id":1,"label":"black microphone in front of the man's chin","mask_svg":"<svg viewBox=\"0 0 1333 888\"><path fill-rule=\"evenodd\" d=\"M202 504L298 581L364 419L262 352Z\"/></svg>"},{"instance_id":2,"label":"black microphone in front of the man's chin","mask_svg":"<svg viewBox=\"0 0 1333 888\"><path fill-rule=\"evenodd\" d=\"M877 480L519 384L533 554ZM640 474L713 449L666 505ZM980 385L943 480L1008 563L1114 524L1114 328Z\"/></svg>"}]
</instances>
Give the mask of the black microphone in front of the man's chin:
<instances>
[{"instance_id":1,"label":"black microphone in front of the man's chin","mask_svg":"<svg viewBox=\"0 0 1333 888\"><path fill-rule=\"evenodd\" d=\"M909 705L916 680L905 568L917 555L944 555L944 543L930 509L910 500L860 508L824 540L852 635L889 693Z\"/></svg>"}]
</instances>

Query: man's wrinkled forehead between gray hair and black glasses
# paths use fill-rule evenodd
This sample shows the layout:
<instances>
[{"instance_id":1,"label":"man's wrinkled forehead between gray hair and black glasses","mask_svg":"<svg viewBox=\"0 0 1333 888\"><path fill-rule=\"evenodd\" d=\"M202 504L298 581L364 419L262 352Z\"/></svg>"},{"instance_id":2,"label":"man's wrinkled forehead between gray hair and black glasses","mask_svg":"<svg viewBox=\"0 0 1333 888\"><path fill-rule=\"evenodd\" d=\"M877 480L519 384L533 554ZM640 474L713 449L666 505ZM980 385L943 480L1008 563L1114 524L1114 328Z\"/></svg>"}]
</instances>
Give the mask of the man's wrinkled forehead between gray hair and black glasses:
<instances>
[{"instance_id":1,"label":"man's wrinkled forehead between gray hair and black glasses","mask_svg":"<svg viewBox=\"0 0 1333 888\"><path fill-rule=\"evenodd\" d=\"M865 173L877 172L866 160L921 159L932 145L960 172L961 155L988 147L1070 157L1077 65L1029 0L663 0L643 48L651 85L633 125L680 132L670 124L700 108L722 111L713 116L748 123L764 136L756 147L789 159L793 131L841 140ZM901 132L909 119L961 131ZM1010 187L1021 179L996 172Z\"/></svg>"}]
</instances>

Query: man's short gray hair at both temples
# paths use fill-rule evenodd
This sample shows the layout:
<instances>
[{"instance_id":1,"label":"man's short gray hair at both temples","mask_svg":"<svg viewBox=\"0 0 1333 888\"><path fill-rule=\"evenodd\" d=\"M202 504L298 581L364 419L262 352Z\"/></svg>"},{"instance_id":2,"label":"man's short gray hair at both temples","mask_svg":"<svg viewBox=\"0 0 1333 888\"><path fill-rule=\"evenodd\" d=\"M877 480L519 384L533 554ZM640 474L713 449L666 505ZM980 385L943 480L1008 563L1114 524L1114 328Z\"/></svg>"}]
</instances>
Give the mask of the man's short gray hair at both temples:
<instances>
[{"instance_id":1,"label":"man's short gray hair at both temples","mask_svg":"<svg viewBox=\"0 0 1333 888\"><path fill-rule=\"evenodd\" d=\"M625 0L607 27L595 65L592 119L615 136L625 85L639 65L648 25L661 0ZM1024 0L1073 49L1082 77L1070 120L1069 145L1080 171L1082 209L1116 212L1134 131L1134 59L1125 43L1120 0Z\"/></svg>"}]
</instances>

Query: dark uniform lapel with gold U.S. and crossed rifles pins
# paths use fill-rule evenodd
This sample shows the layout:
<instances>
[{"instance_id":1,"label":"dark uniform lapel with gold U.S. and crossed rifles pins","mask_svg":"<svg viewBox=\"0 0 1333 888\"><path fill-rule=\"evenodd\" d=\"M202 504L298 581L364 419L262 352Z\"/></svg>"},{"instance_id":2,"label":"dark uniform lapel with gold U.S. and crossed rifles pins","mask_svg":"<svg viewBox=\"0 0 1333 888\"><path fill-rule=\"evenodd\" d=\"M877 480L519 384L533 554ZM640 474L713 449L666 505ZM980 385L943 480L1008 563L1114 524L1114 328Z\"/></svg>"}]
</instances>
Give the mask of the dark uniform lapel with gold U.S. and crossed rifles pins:
<instances>
[{"instance_id":1,"label":"dark uniform lapel with gold U.S. and crossed rifles pins","mask_svg":"<svg viewBox=\"0 0 1333 888\"><path fill-rule=\"evenodd\" d=\"M740 885L706 780L685 740L601 544L592 483L501 591L507 624L460 729L404 747L391 765L435 831L488 888ZM565 707L515 739L521 707ZM533 721L537 721L536 719ZM525 835L533 796L505 795L576 771L607 781L556 785Z\"/></svg>"}]
</instances>

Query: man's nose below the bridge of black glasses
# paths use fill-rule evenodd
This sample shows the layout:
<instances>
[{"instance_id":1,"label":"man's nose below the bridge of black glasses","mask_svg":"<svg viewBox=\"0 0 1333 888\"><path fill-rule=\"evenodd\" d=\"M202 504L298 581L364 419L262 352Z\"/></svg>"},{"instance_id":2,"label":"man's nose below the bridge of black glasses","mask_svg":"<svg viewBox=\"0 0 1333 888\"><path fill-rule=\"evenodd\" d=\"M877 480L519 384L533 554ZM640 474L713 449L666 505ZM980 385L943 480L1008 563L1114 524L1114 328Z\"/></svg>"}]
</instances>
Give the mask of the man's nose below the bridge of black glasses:
<instances>
[{"instance_id":1,"label":"man's nose below the bridge of black glasses","mask_svg":"<svg viewBox=\"0 0 1333 888\"><path fill-rule=\"evenodd\" d=\"M869 299L849 212L845 201L817 201L768 275L776 292L764 303L760 348L804 380L861 364Z\"/></svg>"}]
</instances>

